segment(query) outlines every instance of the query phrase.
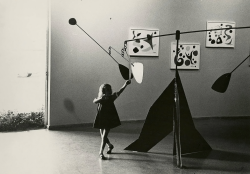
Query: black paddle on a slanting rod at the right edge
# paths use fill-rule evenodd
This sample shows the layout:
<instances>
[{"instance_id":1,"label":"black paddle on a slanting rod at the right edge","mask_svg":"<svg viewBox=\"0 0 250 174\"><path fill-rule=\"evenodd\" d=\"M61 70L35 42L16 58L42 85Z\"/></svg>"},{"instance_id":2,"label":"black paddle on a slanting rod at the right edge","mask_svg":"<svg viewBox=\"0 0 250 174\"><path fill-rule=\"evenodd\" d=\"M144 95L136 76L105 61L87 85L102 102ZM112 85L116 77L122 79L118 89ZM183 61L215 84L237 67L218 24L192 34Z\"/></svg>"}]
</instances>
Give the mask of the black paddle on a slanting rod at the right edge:
<instances>
[{"instance_id":1,"label":"black paddle on a slanting rod at the right edge","mask_svg":"<svg viewBox=\"0 0 250 174\"><path fill-rule=\"evenodd\" d=\"M250 55L249 55L250 56ZM249 58L249 56L247 56L247 58ZM247 60L247 58L245 58L236 68L234 68L234 70L230 73L226 73L223 74L222 76L220 76L212 85L212 89L220 92L220 93L224 93L227 90L227 87L229 85L229 81L231 78L232 73L243 63Z\"/></svg>"}]
</instances>

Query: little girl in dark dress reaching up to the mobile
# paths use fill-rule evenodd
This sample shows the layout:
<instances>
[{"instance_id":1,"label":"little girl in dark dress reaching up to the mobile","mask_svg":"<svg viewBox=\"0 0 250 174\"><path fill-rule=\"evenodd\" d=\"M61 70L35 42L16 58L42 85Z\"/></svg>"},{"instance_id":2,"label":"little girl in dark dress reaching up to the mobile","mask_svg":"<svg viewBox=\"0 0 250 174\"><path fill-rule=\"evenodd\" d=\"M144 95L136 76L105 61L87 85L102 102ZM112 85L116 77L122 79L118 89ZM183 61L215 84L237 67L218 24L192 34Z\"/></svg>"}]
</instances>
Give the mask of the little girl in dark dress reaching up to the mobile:
<instances>
[{"instance_id":1,"label":"little girl in dark dress reaching up to the mobile","mask_svg":"<svg viewBox=\"0 0 250 174\"><path fill-rule=\"evenodd\" d=\"M98 97L95 98L93 101L93 103L98 104L97 115L93 127L100 129L102 142L99 156L102 160L106 159L106 157L103 155L105 145L108 145L107 154L111 154L111 151L114 148L114 146L110 143L108 139L110 129L121 125L114 101L130 83L131 81L127 80L121 87L121 89L118 92L114 93L112 93L111 85L102 84L99 88Z\"/></svg>"}]
</instances>

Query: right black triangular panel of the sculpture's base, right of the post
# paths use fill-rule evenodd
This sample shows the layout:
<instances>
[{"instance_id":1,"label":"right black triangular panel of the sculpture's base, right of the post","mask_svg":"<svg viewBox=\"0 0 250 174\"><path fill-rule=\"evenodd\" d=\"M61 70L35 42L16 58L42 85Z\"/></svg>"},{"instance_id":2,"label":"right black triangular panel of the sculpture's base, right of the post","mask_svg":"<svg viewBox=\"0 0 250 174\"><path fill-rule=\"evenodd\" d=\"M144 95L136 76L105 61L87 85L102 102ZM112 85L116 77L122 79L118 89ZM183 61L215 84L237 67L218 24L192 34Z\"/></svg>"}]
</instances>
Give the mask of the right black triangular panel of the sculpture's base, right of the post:
<instances>
[{"instance_id":1,"label":"right black triangular panel of the sculpture's base, right of the post","mask_svg":"<svg viewBox=\"0 0 250 174\"><path fill-rule=\"evenodd\" d=\"M181 153L187 154L187 153L211 150L212 148L209 146L209 144L205 141L205 139L195 128L178 72L176 79L177 79L179 103L180 103ZM176 154L176 149L174 146L174 155L175 154Z\"/></svg>"}]
</instances>

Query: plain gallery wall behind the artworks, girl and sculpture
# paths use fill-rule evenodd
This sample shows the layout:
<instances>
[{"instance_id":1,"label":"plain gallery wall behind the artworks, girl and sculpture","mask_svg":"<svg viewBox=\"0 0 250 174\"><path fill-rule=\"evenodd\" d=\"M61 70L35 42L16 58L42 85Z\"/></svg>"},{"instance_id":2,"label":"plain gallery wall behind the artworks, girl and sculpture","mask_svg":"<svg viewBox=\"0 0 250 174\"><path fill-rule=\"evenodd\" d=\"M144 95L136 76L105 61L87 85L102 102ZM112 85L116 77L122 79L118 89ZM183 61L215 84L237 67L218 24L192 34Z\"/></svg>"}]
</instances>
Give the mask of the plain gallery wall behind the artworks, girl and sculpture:
<instances>
[{"instance_id":1,"label":"plain gallery wall behind the artworks, girl and sculpture","mask_svg":"<svg viewBox=\"0 0 250 174\"><path fill-rule=\"evenodd\" d=\"M160 34L176 30L206 29L207 21L234 21L250 26L250 1L245 0L51 0L51 72L49 126L92 123L92 103L102 83L118 90L124 83L117 63L104 49L123 48L130 28L159 29ZM222 74L231 72L250 52L250 29L237 30L234 48L207 48L206 33L181 35L180 42L200 43L200 69L179 74L193 117L250 115L250 67L247 60L231 77L228 90L211 89ZM133 57L144 65L142 84L132 84L115 102L120 119L144 120L150 106L174 78L170 69L171 42L161 37L158 57ZM118 54L113 57L125 66ZM164 104L163 104L164 106Z\"/></svg>"}]
</instances>

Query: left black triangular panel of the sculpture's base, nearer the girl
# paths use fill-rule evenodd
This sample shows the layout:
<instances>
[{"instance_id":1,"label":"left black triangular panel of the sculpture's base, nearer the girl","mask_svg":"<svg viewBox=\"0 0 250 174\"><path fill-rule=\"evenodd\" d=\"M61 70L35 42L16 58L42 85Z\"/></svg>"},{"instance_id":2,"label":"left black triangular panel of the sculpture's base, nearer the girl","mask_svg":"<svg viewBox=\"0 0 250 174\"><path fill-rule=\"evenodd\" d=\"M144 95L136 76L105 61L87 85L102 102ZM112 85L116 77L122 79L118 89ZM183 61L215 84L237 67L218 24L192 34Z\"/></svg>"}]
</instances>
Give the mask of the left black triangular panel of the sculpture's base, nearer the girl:
<instances>
[{"instance_id":1,"label":"left black triangular panel of the sculpture's base, nearer the girl","mask_svg":"<svg viewBox=\"0 0 250 174\"><path fill-rule=\"evenodd\" d=\"M139 138L125 150L147 152L173 130L174 80L151 106Z\"/></svg>"}]
</instances>

